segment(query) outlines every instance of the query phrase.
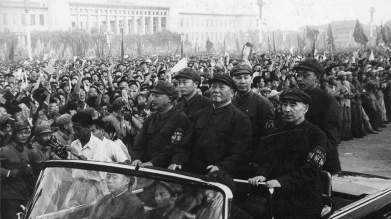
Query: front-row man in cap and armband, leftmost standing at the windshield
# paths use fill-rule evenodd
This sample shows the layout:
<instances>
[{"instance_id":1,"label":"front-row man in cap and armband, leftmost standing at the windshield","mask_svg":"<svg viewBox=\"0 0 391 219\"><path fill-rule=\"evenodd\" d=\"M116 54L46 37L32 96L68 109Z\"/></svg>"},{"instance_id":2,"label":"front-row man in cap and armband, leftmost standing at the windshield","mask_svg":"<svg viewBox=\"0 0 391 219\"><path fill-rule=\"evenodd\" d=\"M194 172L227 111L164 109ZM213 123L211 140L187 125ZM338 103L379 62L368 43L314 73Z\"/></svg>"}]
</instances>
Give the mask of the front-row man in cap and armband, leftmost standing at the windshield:
<instances>
[{"instance_id":1,"label":"front-row man in cap and armband, leftmost standing at the windshield","mask_svg":"<svg viewBox=\"0 0 391 219\"><path fill-rule=\"evenodd\" d=\"M131 148L132 165L168 167L175 148L190 126L187 116L174 107L175 87L159 80L151 92L156 112L146 117Z\"/></svg>"}]
</instances>

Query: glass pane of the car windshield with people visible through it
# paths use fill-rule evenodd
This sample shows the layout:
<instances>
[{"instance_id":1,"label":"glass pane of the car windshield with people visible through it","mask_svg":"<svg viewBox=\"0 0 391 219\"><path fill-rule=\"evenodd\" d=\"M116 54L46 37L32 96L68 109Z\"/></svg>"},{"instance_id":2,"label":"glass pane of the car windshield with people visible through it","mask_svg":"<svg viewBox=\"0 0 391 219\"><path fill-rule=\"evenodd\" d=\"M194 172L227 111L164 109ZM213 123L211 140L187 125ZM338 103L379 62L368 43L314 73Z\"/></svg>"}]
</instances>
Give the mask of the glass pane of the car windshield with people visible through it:
<instances>
[{"instance_id":1,"label":"glass pane of the car windshield with people visible through it","mask_svg":"<svg viewBox=\"0 0 391 219\"><path fill-rule=\"evenodd\" d=\"M224 194L162 177L48 167L27 209L25 218L33 219L222 218Z\"/></svg>"}]
</instances>

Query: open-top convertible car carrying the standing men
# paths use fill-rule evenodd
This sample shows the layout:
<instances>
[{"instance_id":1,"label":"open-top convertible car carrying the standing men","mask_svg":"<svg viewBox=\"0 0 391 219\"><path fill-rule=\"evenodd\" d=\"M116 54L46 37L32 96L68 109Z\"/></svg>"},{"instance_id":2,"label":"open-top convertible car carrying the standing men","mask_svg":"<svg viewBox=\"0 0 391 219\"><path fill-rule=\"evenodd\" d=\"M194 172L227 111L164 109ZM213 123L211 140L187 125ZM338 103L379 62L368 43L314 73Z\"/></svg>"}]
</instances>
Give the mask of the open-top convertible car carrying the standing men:
<instances>
[{"instance_id":1,"label":"open-top convertible car carrying the standing men","mask_svg":"<svg viewBox=\"0 0 391 219\"><path fill-rule=\"evenodd\" d=\"M114 188L124 186L116 175L125 176L130 191L128 199L121 202L113 200L122 194ZM390 178L340 172L332 177L322 174L321 180L324 218L391 218ZM246 180L235 182L233 194L218 179L181 171L95 161L48 161L20 218L111 218L109 214L118 213L126 214L121 218L156 218L173 195L176 211L172 218L235 218L237 207L253 218L273 218L272 189L252 186ZM164 188L177 192L164 199Z\"/></svg>"}]
</instances>

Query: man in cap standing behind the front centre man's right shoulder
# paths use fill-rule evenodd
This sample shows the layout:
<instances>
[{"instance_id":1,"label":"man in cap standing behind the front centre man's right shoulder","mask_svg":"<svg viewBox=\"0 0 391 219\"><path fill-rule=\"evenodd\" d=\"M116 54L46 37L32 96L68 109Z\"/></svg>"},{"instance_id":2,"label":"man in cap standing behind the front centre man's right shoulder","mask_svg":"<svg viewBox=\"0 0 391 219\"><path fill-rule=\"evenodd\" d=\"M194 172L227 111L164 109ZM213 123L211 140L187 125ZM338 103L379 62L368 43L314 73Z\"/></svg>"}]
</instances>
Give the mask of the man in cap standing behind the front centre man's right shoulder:
<instances>
[{"instance_id":1,"label":"man in cap standing behind the front centre man's right shoulder","mask_svg":"<svg viewBox=\"0 0 391 219\"><path fill-rule=\"evenodd\" d=\"M249 116L253 128L253 151L264 147L262 137L268 136L274 128L274 108L272 103L251 89L252 69L249 65L237 64L231 70L231 76L238 83L238 94L232 103Z\"/></svg>"}]
</instances>

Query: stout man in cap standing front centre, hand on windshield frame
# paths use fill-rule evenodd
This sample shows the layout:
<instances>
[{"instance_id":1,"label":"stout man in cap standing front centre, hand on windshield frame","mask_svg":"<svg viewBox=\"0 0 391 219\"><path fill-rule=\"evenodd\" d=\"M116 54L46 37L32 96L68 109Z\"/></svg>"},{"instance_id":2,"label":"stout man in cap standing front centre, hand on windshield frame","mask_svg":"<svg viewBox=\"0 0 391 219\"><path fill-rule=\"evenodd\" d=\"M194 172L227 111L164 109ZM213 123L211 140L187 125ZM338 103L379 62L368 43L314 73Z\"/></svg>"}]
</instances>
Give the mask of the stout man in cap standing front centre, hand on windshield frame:
<instances>
[{"instance_id":1,"label":"stout man in cap standing front centre, hand on windshield frame","mask_svg":"<svg viewBox=\"0 0 391 219\"><path fill-rule=\"evenodd\" d=\"M169 168L189 165L194 173L223 170L240 177L251 152L251 121L232 104L238 86L228 73L216 73L211 82L213 104L195 113Z\"/></svg>"}]
</instances>

